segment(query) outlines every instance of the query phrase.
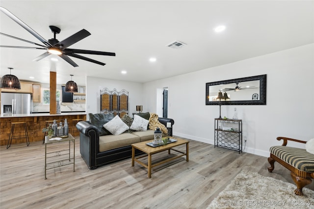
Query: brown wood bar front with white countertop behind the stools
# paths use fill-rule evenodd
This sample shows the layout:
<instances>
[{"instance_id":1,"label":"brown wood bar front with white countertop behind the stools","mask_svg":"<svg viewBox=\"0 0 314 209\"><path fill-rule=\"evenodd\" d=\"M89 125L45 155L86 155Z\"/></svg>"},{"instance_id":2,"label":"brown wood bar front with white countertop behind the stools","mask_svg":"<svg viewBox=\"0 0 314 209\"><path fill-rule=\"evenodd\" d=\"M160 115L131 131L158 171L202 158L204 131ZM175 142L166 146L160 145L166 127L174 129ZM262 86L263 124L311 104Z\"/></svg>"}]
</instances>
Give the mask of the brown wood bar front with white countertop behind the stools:
<instances>
[{"instance_id":1,"label":"brown wood bar front with white countertop behind the stools","mask_svg":"<svg viewBox=\"0 0 314 209\"><path fill-rule=\"evenodd\" d=\"M15 114L15 115L1 115L0 116L0 145L6 145L11 132L11 122L27 122L27 132L29 141L42 141L44 133L42 129L46 126L46 120L60 120L67 118L69 124L69 133L71 133L72 120L82 119L86 120L86 113L61 113L61 114ZM15 127L14 136L23 135L23 127ZM74 136L78 136L79 132L75 133ZM26 139L13 139L12 144L25 143Z\"/></svg>"}]
</instances>

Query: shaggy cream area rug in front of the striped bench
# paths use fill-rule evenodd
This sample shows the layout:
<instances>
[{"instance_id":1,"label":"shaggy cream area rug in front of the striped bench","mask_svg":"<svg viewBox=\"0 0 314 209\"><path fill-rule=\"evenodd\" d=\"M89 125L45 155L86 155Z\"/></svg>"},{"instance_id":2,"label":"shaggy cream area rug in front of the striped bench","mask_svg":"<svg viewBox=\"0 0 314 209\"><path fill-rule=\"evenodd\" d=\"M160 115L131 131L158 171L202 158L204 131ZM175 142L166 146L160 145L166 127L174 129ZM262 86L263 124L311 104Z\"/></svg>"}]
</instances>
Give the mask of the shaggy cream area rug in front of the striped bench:
<instances>
[{"instance_id":1,"label":"shaggy cream area rug in front of the striped bench","mask_svg":"<svg viewBox=\"0 0 314 209\"><path fill-rule=\"evenodd\" d=\"M297 196L295 188L293 184L243 170L207 209L314 209L314 191L303 188L304 196Z\"/></svg>"}]
</instances>

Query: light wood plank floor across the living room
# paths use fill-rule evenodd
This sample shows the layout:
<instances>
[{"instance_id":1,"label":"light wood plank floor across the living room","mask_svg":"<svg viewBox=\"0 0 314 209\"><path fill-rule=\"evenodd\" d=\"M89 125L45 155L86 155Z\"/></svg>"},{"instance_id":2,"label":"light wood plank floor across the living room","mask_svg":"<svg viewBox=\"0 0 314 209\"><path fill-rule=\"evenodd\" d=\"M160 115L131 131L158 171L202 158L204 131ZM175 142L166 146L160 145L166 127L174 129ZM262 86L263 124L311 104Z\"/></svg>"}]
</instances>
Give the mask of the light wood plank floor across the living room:
<instances>
[{"instance_id":1,"label":"light wood plank floor across the living room","mask_svg":"<svg viewBox=\"0 0 314 209\"><path fill-rule=\"evenodd\" d=\"M293 184L288 169L278 163L269 173L266 157L238 154L191 139L189 162L182 157L154 167L151 179L138 163L131 167L131 159L89 170L76 139L76 171L72 165L53 168L47 171L47 180L41 142L31 142L28 147L13 144L9 149L1 146L0 208L206 209L243 169ZM50 149L59 146L54 143ZM177 148L185 151L185 145ZM153 162L167 155L166 151L153 155ZM314 189L314 183L307 187Z\"/></svg>"}]
</instances>

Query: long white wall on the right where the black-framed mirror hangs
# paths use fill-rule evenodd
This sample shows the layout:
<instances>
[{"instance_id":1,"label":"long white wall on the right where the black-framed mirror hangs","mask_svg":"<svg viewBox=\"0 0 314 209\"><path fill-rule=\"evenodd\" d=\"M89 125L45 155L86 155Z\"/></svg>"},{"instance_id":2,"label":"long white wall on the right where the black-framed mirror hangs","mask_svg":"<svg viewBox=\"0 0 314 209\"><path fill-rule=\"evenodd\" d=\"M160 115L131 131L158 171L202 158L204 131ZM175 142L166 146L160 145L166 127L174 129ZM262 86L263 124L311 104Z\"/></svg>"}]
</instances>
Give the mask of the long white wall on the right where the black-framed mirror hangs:
<instances>
[{"instance_id":1,"label":"long white wall on the right where the black-framed mirror hangs","mask_svg":"<svg viewBox=\"0 0 314 209\"><path fill-rule=\"evenodd\" d=\"M174 135L213 144L219 106L205 105L205 84L262 74L267 74L266 105L221 107L222 117L229 118L237 108L247 137L244 151L269 156L269 147L282 143L276 137L314 138L314 44L145 83L143 107L156 112L156 89L168 86Z\"/></svg>"}]
</instances>

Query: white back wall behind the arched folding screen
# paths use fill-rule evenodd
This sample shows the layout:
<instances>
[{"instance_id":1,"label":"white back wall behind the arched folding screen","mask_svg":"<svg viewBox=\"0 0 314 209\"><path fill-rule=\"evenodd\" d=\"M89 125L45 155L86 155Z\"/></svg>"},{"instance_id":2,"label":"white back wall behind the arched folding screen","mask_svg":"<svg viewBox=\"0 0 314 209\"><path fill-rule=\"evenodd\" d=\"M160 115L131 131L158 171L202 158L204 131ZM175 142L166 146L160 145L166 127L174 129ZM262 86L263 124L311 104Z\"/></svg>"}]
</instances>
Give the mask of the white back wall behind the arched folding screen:
<instances>
[{"instance_id":1,"label":"white back wall behind the arched folding screen","mask_svg":"<svg viewBox=\"0 0 314 209\"><path fill-rule=\"evenodd\" d=\"M110 91L123 89L129 92L129 115L136 113L136 105L143 105L143 84L128 81L109 80L97 77L86 77L86 119L89 113L100 113L100 90L108 88ZM143 112L147 106L143 105Z\"/></svg>"}]
</instances>

